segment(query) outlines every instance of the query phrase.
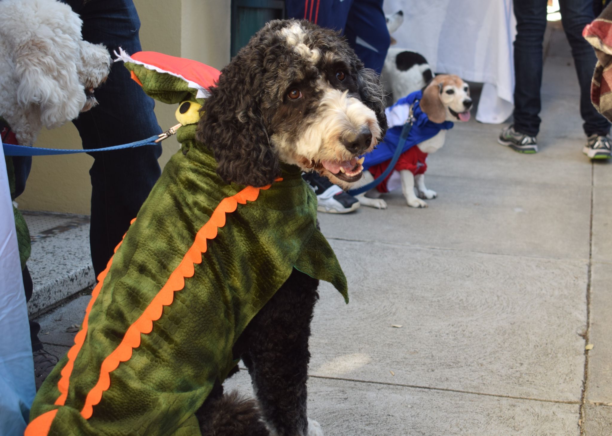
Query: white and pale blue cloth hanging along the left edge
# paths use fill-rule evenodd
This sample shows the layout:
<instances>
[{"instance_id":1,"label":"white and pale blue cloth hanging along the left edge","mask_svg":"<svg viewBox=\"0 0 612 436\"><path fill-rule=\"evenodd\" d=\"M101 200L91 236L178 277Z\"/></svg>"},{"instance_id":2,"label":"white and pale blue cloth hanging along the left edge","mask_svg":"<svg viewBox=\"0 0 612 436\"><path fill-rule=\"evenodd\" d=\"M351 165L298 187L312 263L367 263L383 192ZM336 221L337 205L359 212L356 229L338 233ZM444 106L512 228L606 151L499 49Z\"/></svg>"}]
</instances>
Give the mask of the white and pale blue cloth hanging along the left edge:
<instances>
[{"instance_id":1,"label":"white and pale blue cloth hanging along the left edge","mask_svg":"<svg viewBox=\"0 0 612 436\"><path fill-rule=\"evenodd\" d=\"M26 295L0 147L0 435L23 435L36 394Z\"/></svg>"}]
</instances>

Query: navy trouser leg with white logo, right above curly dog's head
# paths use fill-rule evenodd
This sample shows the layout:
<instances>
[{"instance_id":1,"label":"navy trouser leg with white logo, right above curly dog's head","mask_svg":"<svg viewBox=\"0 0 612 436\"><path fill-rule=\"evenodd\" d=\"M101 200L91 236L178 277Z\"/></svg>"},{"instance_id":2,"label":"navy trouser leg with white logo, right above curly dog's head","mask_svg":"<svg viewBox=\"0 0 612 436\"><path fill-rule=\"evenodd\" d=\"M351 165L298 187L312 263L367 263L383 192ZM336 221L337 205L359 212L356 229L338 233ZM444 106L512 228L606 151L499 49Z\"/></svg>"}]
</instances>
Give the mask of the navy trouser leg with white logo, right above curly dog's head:
<instances>
[{"instance_id":1,"label":"navy trouser leg with white logo, right above curly dog's head","mask_svg":"<svg viewBox=\"0 0 612 436\"><path fill-rule=\"evenodd\" d=\"M380 74L391 41L383 0L355 0L346 19L345 35L365 67Z\"/></svg>"}]
</instances>

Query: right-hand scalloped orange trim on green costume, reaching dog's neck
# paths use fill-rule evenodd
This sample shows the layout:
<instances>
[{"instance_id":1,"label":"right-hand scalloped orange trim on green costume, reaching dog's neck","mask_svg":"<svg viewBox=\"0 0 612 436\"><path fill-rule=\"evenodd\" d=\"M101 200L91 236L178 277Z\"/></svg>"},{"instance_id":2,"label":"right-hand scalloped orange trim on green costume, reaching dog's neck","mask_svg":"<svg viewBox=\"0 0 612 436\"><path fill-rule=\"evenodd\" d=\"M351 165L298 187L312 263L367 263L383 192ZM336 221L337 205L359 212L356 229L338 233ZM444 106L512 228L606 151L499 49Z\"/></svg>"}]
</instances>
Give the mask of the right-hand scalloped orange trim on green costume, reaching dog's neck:
<instances>
[{"instance_id":1,"label":"right-hand scalloped orange trim on green costume, reaching dog's neck","mask_svg":"<svg viewBox=\"0 0 612 436\"><path fill-rule=\"evenodd\" d=\"M278 178L275 182L280 180L283 179ZM153 322L159 320L162 316L163 307L169 306L174 300L174 292L182 290L185 286L185 278L193 276L195 271L194 264L200 264L202 262L202 253L206 253L206 240L215 238L218 229L225 226L225 214L234 212L238 204L255 201L259 196L259 191L267 190L270 186L267 185L261 188L246 187L242 191L219 202L211 218L196 234L192 246L183 256L181 263L170 274L168 281L155 295L149 306L144 309L143 314L130 325L118 347L102 362L98 382L87 394L85 404L81 410L83 418L91 418L94 405L102 400L102 393L110 387L110 373L118 368L119 363L130 360L133 350L140 347L140 335L151 333Z\"/></svg>"}]
</instances>

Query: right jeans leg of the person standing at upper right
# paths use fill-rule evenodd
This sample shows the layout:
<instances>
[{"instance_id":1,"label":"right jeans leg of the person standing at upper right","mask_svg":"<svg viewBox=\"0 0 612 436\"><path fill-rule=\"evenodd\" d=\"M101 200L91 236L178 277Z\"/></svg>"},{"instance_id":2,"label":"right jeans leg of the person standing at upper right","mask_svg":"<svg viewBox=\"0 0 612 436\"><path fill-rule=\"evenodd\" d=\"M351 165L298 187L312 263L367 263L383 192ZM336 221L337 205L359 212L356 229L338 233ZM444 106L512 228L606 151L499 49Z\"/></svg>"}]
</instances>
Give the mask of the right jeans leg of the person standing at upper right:
<instances>
[{"instance_id":1,"label":"right jeans leg of the person standing at upper right","mask_svg":"<svg viewBox=\"0 0 612 436\"><path fill-rule=\"evenodd\" d=\"M559 7L580 84L580 115L584 120L584 133L586 136L605 136L610 131L610 122L591 103L591 79L597 57L592 46L582 37L584 26L595 19L592 3L590 0L559 0Z\"/></svg>"}]
</instances>

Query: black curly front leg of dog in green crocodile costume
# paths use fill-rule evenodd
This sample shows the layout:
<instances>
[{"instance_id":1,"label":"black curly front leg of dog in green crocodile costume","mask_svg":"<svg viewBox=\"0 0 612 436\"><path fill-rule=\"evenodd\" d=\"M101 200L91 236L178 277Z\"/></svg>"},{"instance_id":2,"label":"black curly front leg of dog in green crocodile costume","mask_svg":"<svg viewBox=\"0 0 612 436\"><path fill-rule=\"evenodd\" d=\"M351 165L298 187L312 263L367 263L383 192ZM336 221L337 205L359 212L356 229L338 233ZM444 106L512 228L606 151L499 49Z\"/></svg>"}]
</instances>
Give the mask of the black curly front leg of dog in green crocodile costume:
<instances>
[{"instance_id":1,"label":"black curly front leg of dog in green crocodile costume","mask_svg":"<svg viewBox=\"0 0 612 436\"><path fill-rule=\"evenodd\" d=\"M243 361L274 436L323 436L306 413L308 336L318 280L293 270L241 335Z\"/></svg>"}]
</instances>

